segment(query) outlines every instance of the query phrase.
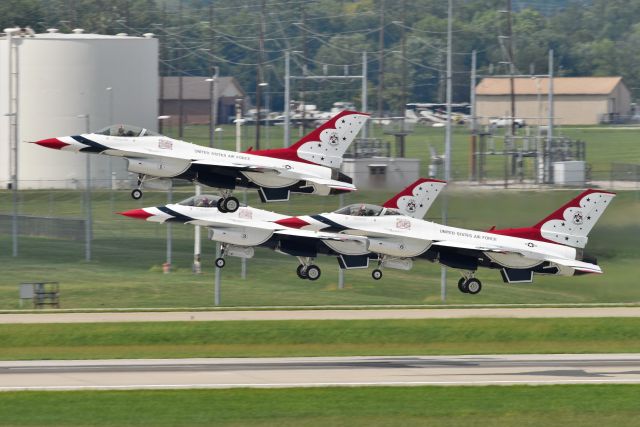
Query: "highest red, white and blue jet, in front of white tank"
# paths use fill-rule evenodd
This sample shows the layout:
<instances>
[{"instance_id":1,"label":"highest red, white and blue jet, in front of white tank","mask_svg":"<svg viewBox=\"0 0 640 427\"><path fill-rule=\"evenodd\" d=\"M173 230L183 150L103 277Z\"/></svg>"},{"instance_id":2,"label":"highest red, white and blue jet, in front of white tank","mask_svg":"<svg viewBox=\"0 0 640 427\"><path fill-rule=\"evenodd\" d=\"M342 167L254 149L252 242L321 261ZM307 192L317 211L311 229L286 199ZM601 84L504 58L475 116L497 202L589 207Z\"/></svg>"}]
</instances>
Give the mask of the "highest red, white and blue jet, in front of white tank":
<instances>
[{"instance_id":1,"label":"highest red, white and blue jet, in front of white tank","mask_svg":"<svg viewBox=\"0 0 640 427\"><path fill-rule=\"evenodd\" d=\"M222 190L221 212L235 212L236 187L257 188L263 202L288 200L289 194L338 194L355 190L339 171L342 156L368 115L343 111L288 148L244 153L204 147L133 126L115 125L95 133L48 138L36 144L62 151L118 156L138 174L131 192L142 197L145 180L178 178Z\"/></svg>"}]
</instances>

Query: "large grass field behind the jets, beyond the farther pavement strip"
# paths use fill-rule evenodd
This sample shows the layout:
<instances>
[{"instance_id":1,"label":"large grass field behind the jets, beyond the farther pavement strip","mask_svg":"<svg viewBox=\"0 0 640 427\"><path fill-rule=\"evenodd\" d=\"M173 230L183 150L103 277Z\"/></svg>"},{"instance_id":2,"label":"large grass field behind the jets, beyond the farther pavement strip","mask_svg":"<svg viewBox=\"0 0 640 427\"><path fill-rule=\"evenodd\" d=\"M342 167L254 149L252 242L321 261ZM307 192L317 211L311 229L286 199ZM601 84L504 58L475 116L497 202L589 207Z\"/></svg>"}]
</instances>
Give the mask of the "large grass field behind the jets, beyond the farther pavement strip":
<instances>
[{"instance_id":1,"label":"large grass field behind the jets, beyond the farther pavement strip","mask_svg":"<svg viewBox=\"0 0 640 427\"><path fill-rule=\"evenodd\" d=\"M204 274L191 273L193 227L173 225L172 274L162 274L166 257L166 226L115 215L114 212L162 204L166 195L148 192L144 201L132 201L126 191L97 193L94 199L93 261L84 261L84 244L61 239L21 238L18 258L11 257L11 241L0 237L0 309L18 308L18 284L33 280L61 282L63 308L206 307L213 304L214 245L203 239ZM573 197L576 191L451 192L449 224L485 230L496 225L530 225ZM113 199L112 199L113 196ZM188 193L174 195L174 200ZM345 203L383 202L391 194L358 192ZM10 195L0 193L0 206ZM329 200L330 199L330 200ZM289 214L326 212L336 208L333 198L297 197L282 204L250 204ZM427 215L439 221L440 201ZM10 204L9 204L10 206ZM70 192L25 191L21 212L77 216L81 195ZM587 252L598 257L603 275L538 277L531 285L505 285L499 273L480 270L485 289L476 296L460 294L458 273L450 270L448 302L461 303L593 303L637 302L640 287L640 203L635 192L621 192L590 235ZM259 249L247 263L247 279L240 277L240 261L229 258L223 270L222 303L237 305L353 305L438 304L440 267L417 260L411 271L385 271L373 281L369 270L345 272L345 289L338 289L335 259L321 257L323 275L316 282L295 275L297 260Z\"/></svg>"}]
</instances>

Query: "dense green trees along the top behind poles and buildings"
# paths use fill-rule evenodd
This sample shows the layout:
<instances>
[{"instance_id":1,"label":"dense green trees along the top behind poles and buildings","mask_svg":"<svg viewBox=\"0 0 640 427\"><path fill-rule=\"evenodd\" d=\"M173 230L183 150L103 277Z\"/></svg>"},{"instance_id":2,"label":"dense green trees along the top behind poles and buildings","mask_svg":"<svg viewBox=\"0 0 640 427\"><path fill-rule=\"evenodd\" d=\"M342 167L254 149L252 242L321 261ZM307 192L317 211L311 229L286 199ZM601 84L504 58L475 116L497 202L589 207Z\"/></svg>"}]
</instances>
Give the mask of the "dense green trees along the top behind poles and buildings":
<instances>
[{"instance_id":1,"label":"dense green trees along the top behind poles and buildings","mask_svg":"<svg viewBox=\"0 0 640 427\"><path fill-rule=\"evenodd\" d=\"M474 50L479 75L506 74L509 62L518 74L544 74L553 49L555 75L621 75L633 97L640 95L640 0L513 0L511 14L508 6L453 0L454 101L469 99ZM151 32L160 40L163 75L204 76L219 67L252 98L258 83L268 83L273 109L282 109L285 51L294 75L361 74L367 52L372 111L381 105L395 114L403 102L444 99L442 0L9 0L0 2L0 21L36 32ZM325 109L359 103L360 93L359 80L292 86L293 99Z\"/></svg>"}]
</instances>

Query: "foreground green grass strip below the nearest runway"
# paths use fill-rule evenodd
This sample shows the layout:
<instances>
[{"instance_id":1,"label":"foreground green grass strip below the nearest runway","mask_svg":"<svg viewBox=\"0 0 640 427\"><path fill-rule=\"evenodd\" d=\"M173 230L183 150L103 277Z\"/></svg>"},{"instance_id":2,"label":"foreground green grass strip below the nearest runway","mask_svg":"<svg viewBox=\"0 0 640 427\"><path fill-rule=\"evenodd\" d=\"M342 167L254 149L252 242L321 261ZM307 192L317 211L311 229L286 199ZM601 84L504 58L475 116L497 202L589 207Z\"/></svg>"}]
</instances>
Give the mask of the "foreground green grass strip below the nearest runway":
<instances>
[{"instance_id":1,"label":"foreground green grass strip below the nearest runway","mask_svg":"<svg viewBox=\"0 0 640 427\"><path fill-rule=\"evenodd\" d=\"M17 426L638 426L638 385L0 393Z\"/></svg>"}]
</instances>

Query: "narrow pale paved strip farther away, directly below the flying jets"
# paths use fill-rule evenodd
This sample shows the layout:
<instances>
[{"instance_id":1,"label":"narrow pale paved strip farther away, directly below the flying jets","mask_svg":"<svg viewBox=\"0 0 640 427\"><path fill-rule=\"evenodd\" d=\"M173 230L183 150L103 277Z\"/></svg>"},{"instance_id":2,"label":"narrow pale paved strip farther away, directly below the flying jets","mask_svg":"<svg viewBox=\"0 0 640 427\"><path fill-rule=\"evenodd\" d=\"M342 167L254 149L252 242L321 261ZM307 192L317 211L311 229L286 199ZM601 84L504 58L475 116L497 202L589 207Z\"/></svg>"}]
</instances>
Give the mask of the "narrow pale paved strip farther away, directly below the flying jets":
<instances>
[{"instance_id":1,"label":"narrow pale paved strip farther away, directly below the flying jets","mask_svg":"<svg viewBox=\"0 0 640 427\"><path fill-rule=\"evenodd\" d=\"M412 308L8 313L8 323L189 322L240 320L365 320L464 318L640 317L640 307Z\"/></svg>"}]
</instances>

